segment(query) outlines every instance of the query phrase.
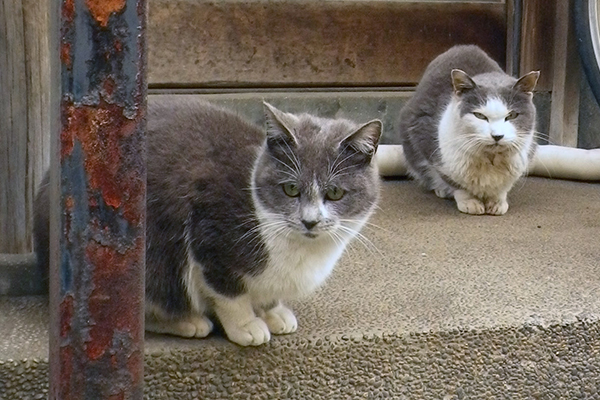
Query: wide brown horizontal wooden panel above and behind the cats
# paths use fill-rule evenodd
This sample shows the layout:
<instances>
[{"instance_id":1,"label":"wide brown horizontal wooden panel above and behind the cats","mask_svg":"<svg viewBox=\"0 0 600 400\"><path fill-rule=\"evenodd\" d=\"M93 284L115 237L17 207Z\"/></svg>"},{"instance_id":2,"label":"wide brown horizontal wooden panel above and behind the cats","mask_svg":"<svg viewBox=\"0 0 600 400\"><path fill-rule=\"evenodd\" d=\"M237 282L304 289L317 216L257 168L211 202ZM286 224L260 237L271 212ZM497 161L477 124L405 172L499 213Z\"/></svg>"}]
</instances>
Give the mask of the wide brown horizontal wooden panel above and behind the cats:
<instances>
[{"instance_id":1,"label":"wide brown horizontal wooden panel above and behind the cats","mask_svg":"<svg viewBox=\"0 0 600 400\"><path fill-rule=\"evenodd\" d=\"M475 43L504 64L504 3L150 1L152 87L415 84Z\"/></svg>"}]
</instances>

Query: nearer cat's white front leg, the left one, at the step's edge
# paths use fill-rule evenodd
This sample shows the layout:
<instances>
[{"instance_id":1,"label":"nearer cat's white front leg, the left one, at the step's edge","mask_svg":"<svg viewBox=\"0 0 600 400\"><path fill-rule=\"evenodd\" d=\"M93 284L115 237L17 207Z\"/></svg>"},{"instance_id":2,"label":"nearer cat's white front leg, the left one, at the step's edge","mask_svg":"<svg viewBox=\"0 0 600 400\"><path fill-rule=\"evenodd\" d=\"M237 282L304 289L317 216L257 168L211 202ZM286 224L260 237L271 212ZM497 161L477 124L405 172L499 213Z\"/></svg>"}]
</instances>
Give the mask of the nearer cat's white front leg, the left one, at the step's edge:
<instances>
[{"instance_id":1,"label":"nearer cat's white front leg, the left one, at the step's edge","mask_svg":"<svg viewBox=\"0 0 600 400\"><path fill-rule=\"evenodd\" d=\"M259 346L271 340L267 324L254 314L250 296L216 296L213 301L229 340L240 346Z\"/></svg>"}]
</instances>

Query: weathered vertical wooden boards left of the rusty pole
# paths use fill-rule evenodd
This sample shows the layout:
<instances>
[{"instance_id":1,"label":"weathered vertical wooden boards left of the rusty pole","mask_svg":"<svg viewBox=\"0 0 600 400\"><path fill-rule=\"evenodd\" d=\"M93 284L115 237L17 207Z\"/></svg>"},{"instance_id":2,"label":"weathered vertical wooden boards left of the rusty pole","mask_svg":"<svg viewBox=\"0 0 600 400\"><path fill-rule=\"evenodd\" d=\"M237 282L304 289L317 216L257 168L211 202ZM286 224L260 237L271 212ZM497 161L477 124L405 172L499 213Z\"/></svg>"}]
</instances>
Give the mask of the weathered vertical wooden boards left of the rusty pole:
<instances>
[{"instance_id":1,"label":"weathered vertical wooden boards left of the rusty pole","mask_svg":"<svg viewBox=\"0 0 600 400\"><path fill-rule=\"evenodd\" d=\"M49 163L48 0L0 0L0 253L32 250L33 196Z\"/></svg>"}]
</instances>

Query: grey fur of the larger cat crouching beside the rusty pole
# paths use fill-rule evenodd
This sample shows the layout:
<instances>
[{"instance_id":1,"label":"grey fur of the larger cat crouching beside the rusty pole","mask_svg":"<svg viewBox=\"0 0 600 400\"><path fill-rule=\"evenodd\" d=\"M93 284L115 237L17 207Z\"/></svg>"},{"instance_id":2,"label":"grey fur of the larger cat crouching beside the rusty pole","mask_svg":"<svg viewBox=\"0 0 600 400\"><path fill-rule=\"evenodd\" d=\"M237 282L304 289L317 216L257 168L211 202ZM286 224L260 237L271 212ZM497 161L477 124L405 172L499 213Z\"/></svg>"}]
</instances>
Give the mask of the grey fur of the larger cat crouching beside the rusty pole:
<instances>
[{"instance_id":1,"label":"grey fur of the larger cat crouching beside the rusty pole","mask_svg":"<svg viewBox=\"0 0 600 400\"><path fill-rule=\"evenodd\" d=\"M271 273L270 239L261 230L265 223L256 207L285 220L279 234L298 237L294 240L299 248L307 246L306 251L311 243L335 235L340 219L364 222L373 211L379 182L371 159L381 134L379 121L361 126L287 114L267 104L265 112L266 135L230 111L200 100L149 99L146 302L150 329L204 336L207 332L152 327L157 326L156 320L159 325L174 325L194 316L204 318L215 311L213 305L241 298L248 293L249 283ZM293 182L300 195L286 195L282 189L286 182ZM323 200L331 186L345 190L342 199ZM40 190L36 250L43 263L47 263L47 224L40 221L47 220L46 198L47 191ZM315 202L322 202L327 215L316 213L311 216L313 225L306 225L303 209ZM332 243L344 245L339 240ZM203 288L194 286L192 273L201 276ZM263 312L282 300L269 293L260 298L262 303L252 307ZM228 336L240 344L264 342L240 339L221 322ZM212 327L204 326L208 331Z\"/></svg>"}]
</instances>

